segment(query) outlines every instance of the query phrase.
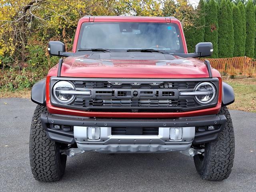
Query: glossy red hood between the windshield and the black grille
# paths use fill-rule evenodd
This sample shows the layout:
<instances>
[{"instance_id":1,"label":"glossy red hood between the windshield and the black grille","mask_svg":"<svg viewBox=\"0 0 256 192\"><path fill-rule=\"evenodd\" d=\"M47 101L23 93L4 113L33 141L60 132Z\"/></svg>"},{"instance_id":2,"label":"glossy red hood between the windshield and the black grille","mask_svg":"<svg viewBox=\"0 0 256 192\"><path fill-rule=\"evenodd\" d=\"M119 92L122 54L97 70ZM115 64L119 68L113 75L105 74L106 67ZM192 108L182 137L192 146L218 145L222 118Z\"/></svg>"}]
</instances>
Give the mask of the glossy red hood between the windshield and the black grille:
<instances>
[{"instance_id":1,"label":"glossy red hood between the windshield and the black grille","mask_svg":"<svg viewBox=\"0 0 256 192\"><path fill-rule=\"evenodd\" d=\"M164 55L164 54L162 54ZM58 65L48 76L56 76ZM61 76L84 78L208 78L204 62L177 56L166 58L65 58Z\"/></svg>"}]
</instances>

